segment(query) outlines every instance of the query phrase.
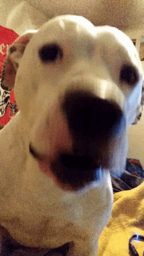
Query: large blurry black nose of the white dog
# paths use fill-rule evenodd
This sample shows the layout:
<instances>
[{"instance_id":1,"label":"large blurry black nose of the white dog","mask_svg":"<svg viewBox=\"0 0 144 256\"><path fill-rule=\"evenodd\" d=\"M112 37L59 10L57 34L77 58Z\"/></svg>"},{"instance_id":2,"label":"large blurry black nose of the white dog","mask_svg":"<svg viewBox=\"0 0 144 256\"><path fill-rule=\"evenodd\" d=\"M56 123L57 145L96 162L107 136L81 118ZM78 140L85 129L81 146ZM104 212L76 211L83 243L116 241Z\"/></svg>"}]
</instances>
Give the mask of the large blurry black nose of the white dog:
<instances>
[{"instance_id":1,"label":"large blurry black nose of the white dog","mask_svg":"<svg viewBox=\"0 0 144 256\"><path fill-rule=\"evenodd\" d=\"M69 129L76 137L114 136L120 132L124 120L115 101L103 100L83 90L67 92L62 109Z\"/></svg>"}]
</instances>

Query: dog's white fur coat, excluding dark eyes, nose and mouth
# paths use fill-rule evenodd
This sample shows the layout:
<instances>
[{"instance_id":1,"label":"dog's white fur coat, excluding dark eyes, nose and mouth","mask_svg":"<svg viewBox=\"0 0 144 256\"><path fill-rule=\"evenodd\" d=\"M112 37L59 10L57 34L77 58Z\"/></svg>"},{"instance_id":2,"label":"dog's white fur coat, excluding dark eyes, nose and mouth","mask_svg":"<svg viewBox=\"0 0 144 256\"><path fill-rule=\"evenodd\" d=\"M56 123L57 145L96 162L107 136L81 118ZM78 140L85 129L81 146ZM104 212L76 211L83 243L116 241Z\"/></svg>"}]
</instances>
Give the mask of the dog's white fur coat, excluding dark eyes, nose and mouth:
<instances>
[{"instance_id":1,"label":"dog's white fur coat, excluding dark eyes, nose and mouth","mask_svg":"<svg viewBox=\"0 0 144 256\"><path fill-rule=\"evenodd\" d=\"M20 111L0 133L1 225L27 246L73 242L71 255L96 255L99 234L113 205L108 170L83 191L63 191L40 172L29 153L29 142L40 153L52 154L55 148L48 140L47 119L53 120L60 97L71 88L88 88L101 98L115 99L126 115L127 130L141 100L139 57L124 33L115 27L95 27L79 16L59 16L24 37L29 39L24 55L19 50L9 56L13 64L19 64L14 90ZM39 48L48 43L62 46L62 61L41 62ZM120 84L123 64L139 71L134 88ZM59 117L61 122L60 110ZM124 168L125 148L126 135L118 142L114 171Z\"/></svg>"}]
</instances>

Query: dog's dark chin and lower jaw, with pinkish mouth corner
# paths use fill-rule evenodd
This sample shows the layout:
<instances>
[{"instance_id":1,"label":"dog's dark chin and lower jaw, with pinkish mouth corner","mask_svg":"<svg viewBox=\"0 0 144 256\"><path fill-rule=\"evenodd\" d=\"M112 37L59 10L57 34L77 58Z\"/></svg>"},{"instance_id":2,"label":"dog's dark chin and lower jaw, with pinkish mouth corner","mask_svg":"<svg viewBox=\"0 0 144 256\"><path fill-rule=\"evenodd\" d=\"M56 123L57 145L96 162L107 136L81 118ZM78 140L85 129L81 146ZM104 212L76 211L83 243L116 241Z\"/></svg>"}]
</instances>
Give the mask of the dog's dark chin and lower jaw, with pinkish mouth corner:
<instances>
[{"instance_id":1,"label":"dog's dark chin and lower jaw, with pinkish mouth corner","mask_svg":"<svg viewBox=\"0 0 144 256\"><path fill-rule=\"evenodd\" d=\"M103 177L103 170L89 155L58 152L53 158L41 155L29 145L29 152L37 159L39 170L63 189L81 191Z\"/></svg>"}]
</instances>

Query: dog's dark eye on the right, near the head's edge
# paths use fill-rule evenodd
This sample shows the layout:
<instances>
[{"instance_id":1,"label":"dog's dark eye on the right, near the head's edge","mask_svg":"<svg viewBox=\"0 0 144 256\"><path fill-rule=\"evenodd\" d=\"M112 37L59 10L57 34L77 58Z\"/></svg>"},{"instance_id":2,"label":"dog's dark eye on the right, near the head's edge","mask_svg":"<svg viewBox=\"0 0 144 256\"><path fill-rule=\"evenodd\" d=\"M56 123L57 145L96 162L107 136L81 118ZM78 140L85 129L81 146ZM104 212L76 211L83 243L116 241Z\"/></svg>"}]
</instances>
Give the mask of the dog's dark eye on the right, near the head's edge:
<instances>
[{"instance_id":1,"label":"dog's dark eye on the right, near the head's edge","mask_svg":"<svg viewBox=\"0 0 144 256\"><path fill-rule=\"evenodd\" d=\"M131 65L123 65L120 70L120 82L126 82L129 85L134 85L139 81L137 69Z\"/></svg>"}]
</instances>

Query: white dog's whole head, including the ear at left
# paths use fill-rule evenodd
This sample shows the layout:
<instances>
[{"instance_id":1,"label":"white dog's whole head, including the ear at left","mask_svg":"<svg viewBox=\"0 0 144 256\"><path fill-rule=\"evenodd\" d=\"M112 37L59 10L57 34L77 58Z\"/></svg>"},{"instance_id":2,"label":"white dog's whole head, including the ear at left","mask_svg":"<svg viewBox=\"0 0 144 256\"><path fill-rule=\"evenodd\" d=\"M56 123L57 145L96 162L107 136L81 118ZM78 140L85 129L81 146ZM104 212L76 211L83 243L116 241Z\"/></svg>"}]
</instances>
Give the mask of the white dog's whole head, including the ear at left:
<instances>
[{"instance_id":1,"label":"white dog's whole head, including the ear at left","mask_svg":"<svg viewBox=\"0 0 144 256\"><path fill-rule=\"evenodd\" d=\"M10 47L3 88L12 89L16 70L27 150L45 173L75 190L103 170L124 168L126 130L139 115L143 81L124 33L79 16L54 18Z\"/></svg>"}]
</instances>

